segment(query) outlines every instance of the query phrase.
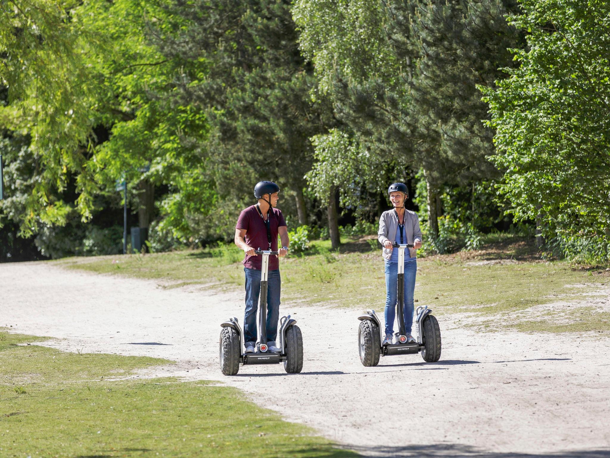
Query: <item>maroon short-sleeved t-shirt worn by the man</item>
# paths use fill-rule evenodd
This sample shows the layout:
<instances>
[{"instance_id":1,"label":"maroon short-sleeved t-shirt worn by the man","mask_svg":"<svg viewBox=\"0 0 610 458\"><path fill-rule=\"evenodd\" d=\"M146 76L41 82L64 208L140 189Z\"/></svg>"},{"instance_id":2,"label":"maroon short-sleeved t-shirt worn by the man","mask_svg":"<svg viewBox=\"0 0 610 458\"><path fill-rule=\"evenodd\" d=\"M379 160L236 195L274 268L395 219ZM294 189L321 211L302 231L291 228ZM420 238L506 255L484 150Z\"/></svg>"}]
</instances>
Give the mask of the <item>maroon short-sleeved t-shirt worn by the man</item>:
<instances>
[{"instance_id":1,"label":"maroon short-sleeved t-shirt worn by the man","mask_svg":"<svg viewBox=\"0 0 610 458\"><path fill-rule=\"evenodd\" d=\"M267 217L267 215L265 215ZM269 214L271 221L271 251L278 250L278 227L285 226L284 215L277 208L271 208ZM260 217L260 213L256 208L256 205L251 205L248 208L242 210L237 219L237 225L235 229L245 229L246 243L253 247L255 250L268 250L269 242L267 239L267 225L264 220ZM262 256L246 256L243 260L243 265L248 269L257 269L260 271L262 268ZM279 269L278 256L269 256L269 270L274 271Z\"/></svg>"}]
</instances>

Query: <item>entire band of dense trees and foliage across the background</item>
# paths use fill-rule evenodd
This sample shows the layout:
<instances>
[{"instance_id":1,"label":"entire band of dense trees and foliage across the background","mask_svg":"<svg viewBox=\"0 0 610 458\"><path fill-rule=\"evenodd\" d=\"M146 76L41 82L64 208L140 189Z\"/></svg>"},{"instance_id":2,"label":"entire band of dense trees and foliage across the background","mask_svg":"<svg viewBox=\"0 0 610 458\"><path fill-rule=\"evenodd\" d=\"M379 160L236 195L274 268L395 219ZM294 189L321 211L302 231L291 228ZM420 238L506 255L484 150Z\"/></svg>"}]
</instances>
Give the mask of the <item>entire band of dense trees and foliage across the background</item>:
<instances>
[{"instance_id":1,"label":"entire band of dense trees and foliage across the background","mask_svg":"<svg viewBox=\"0 0 610 458\"><path fill-rule=\"evenodd\" d=\"M371 231L404 181L428 250L535 225L548 252L607 263L609 18L600 0L0 2L1 260L118 252L122 180L151 249L229 241L265 179L301 250Z\"/></svg>"}]
</instances>

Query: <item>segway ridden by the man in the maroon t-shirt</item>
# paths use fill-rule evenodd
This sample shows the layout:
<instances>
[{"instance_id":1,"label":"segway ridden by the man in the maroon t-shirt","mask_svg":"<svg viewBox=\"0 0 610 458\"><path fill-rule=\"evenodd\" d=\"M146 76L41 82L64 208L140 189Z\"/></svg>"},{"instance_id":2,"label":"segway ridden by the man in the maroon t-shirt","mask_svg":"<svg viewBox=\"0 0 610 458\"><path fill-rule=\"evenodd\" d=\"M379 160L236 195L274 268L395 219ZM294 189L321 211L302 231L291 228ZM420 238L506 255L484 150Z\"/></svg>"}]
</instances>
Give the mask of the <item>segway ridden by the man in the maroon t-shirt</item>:
<instances>
[{"instance_id":1,"label":"segway ridden by the man in the maroon t-shirt","mask_svg":"<svg viewBox=\"0 0 610 458\"><path fill-rule=\"evenodd\" d=\"M256 352L243 352L243 332L237 318L229 318L220 326L220 369L226 376L234 376L239 371L239 365L284 363L284 369L289 374L298 374L303 369L303 336L296 320L282 316L279 320L279 353L269 352L267 345L267 275L269 271L269 256L278 255L276 251L258 249L257 255L262 255L260 272L259 300L259 341Z\"/></svg>"}]
</instances>

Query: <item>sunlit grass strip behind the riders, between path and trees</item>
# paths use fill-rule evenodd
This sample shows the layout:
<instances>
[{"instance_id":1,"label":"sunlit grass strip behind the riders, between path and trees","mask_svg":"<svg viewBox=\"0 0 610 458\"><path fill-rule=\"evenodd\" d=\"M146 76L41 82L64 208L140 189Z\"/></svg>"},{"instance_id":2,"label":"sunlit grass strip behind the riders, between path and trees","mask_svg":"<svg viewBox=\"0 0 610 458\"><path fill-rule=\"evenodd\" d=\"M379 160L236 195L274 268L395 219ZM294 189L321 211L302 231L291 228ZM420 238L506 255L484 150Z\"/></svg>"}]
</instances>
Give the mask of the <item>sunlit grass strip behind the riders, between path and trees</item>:
<instances>
[{"instance_id":1,"label":"sunlit grass strip behind the riders, between path and trees","mask_svg":"<svg viewBox=\"0 0 610 458\"><path fill-rule=\"evenodd\" d=\"M304 302L383 310L386 285L379 250L368 240L343 242L342 249L332 252L328 241L314 241L310 254L292 255L281 261L284 306ZM477 252L418 259L415 306L428 305L438 315L470 312L489 317L491 321L484 329L497 329L495 322L498 329L501 325L503 329L536 330L515 316L534 305L582 300L583 294L608 283L608 277L573 269L568 263L541 262L525 239L501 237L492 242ZM210 250L198 250L71 258L62 263L92 272L162 279L174 285L202 283L213 288L243 288L243 266L234 262L235 253L241 256L229 245L215 256ZM575 321L569 326L556 326L548 317L534 317L533 321L539 326L547 322L544 330L551 332L610 330L599 313L581 320L580 311L571 311ZM507 319L509 316L513 319Z\"/></svg>"}]
</instances>

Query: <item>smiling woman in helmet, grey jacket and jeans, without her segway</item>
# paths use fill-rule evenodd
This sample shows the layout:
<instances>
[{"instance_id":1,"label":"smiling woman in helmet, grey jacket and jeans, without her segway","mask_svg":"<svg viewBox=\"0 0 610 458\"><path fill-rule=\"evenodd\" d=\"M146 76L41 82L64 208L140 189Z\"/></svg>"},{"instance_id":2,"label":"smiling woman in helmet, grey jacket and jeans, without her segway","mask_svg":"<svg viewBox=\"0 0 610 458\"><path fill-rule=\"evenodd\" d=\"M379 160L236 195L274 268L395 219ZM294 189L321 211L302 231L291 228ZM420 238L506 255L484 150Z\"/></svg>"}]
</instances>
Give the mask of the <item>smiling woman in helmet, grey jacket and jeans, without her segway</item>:
<instances>
[{"instance_id":1,"label":"smiling woman in helmet, grey jacket and jeans, without her segway","mask_svg":"<svg viewBox=\"0 0 610 458\"><path fill-rule=\"evenodd\" d=\"M417 249L422 246L422 231L419 218L414 211L404 208L404 201L409 197L409 189L404 183L391 184L387 190L393 208L384 211L379 219L378 239L383 246L383 257L386 270L386 336L382 345L392 344L394 319L397 305L398 249L395 244L412 244L408 256L404 256L404 327L407 343L415 342L411 335L413 324L413 295L415 292L415 274L417 272ZM398 337L398 334L397 334ZM395 342L395 343L398 343Z\"/></svg>"}]
</instances>

